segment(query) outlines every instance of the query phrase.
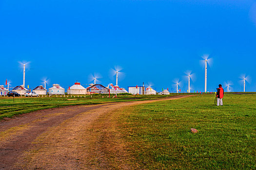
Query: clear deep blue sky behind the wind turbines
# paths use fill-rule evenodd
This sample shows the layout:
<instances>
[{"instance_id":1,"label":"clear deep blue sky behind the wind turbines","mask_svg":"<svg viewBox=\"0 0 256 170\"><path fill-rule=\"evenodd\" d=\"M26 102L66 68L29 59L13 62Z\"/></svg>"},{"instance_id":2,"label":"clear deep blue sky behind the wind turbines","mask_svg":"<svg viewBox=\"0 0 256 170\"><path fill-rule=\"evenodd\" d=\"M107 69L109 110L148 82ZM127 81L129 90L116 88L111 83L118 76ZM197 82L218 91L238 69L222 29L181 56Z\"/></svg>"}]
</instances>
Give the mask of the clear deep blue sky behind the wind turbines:
<instances>
[{"instance_id":1,"label":"clear deep blue sky behind the wind turbines","mask_svg":"<svg viewBox=\"0 0 256 170\"><path fill-rule=\"evenodd\" d=\"M102 85L115 84L109 70L125 76L118 85L154 84L169 88L176 78L187 90L184 72L196 75L193 91L204 90L204 54L208 91L251 77L246 91L256 91L256 0L0 0L0 84L22 85L19 61L29 61L26 85L68 88L89 84L99 73Z\"/></svg>"}]
</instances>

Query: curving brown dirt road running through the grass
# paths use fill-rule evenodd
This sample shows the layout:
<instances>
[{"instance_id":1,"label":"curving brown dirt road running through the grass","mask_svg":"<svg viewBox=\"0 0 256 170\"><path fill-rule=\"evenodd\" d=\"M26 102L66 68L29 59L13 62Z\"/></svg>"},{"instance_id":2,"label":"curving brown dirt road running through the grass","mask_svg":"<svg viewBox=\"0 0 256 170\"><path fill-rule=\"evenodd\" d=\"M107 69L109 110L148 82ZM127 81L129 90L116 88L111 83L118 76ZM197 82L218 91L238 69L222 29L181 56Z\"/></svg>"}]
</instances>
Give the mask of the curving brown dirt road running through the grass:
<instances>
[{"instance_id":1,"label":"curving brown dirt road running through the grass","mask_svg":"<svg viewBox=\"0 0 256 170\"><path fill-rule=\"evenodd\" d=\"M0 169L136 169L125 161L129 155L112 113L154 101L69 106L0 121Z\"/></svg>"}]
</instances>

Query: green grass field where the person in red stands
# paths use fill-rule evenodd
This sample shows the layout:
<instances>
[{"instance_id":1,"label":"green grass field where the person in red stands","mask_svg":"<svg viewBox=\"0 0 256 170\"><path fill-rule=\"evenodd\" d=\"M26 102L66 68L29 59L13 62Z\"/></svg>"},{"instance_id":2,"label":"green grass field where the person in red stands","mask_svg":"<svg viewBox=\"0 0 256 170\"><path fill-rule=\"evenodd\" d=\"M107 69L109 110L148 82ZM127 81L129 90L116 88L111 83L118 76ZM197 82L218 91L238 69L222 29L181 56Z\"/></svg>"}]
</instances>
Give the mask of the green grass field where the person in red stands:
<instances>
[{"instance_id":1,"label":"green grass field where the person in red stands","mask_svg":"<svg viewBox=\"0 0 256 170\"><path fill-rule=\"evenodd\" d=\"M140 169L256 169L256 95L225 94L223 106L214 99L197 95L120 111L118 131Z\"/></svg>"}]
</instances>

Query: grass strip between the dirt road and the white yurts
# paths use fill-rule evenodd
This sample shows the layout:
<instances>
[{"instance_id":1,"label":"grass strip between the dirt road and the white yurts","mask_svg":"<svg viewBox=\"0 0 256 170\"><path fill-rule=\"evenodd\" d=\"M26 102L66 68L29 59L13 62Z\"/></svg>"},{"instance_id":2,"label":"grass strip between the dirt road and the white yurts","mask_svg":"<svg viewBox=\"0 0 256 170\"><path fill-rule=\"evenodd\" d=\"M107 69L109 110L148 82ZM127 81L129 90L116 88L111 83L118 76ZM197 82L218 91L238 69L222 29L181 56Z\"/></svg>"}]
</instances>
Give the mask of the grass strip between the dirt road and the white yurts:
<instances>
[{"instance_id":1,"label":"grass strip between the dirt road and the white yurts","mask_svg":"<svg viewBox=\"0 0 256 170\"><path fill-rule=\"evenodd\" d=\"M105 95L102 98L102 95L72 95L72 97L0 97L0 119L3 118L12 118L15 115L30 113L41 109L63 107L69 105L79 105L79 104L102 104L106 102L126 102L126 101L143 101L143 100L153 100L158 98L170 97L176 94L171 95L118 95L118 98L113 98L113 95L110 98L107 98ZM74 100L70 100L74 99ZM13 101L14 100L14 101Z\"/></svg>"}]
</instances>

